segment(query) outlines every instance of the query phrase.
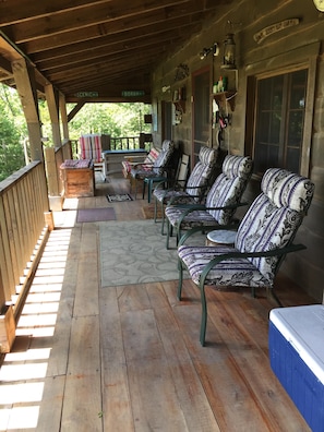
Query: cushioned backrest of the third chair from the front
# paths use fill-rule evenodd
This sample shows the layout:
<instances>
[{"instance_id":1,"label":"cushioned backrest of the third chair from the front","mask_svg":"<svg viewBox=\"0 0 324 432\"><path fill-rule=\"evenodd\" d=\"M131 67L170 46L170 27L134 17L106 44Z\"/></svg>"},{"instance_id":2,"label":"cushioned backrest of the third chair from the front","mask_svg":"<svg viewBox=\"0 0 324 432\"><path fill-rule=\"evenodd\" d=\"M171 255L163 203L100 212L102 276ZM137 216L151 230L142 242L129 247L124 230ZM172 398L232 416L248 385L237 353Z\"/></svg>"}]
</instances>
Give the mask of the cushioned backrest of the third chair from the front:
<instances>
[{"instance_id":1,"label":"cushioned backrest of the third chair from the front","mask_svg":"<svg viewBox=\"0 0 324 432\"><path fill-rule=\"evenodd\" d=\"M213 170L216 166L218 151L202 146L199 153L199 161L195 164L187 182L185 192L196 196L197 201L204 195Z\"/></svg>"}]
</instances>

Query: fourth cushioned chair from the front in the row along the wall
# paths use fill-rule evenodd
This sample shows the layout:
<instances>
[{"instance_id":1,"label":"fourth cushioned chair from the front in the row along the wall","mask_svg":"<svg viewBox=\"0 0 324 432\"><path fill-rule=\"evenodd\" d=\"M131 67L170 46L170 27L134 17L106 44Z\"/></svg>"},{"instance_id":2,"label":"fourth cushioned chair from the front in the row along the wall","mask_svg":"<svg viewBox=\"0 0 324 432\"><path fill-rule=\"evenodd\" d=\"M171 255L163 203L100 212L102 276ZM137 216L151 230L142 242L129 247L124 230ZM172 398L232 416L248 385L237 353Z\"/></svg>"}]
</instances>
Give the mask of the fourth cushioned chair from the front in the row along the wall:
<instances>
[{"instance_id":1,"label":"fourth cushioned chair from the front in the row along the wall","mask_svg":"<svg viewBox=\"0 0 324 432\"><path fill-rule=\"evenodd\" d=\"M141 165L131 169L131 177L135 179L135 199L137 192L137 182L143 182L143 199L144 199L144 181L145 179L161 177L168 170L168 164L170 163L172 153L175 151L175 143L169 140L165 140L161 145L161 149L156 160L152 165L151 169L147 169L147 165L143 168Z\"/></svg>"}]
</instances>

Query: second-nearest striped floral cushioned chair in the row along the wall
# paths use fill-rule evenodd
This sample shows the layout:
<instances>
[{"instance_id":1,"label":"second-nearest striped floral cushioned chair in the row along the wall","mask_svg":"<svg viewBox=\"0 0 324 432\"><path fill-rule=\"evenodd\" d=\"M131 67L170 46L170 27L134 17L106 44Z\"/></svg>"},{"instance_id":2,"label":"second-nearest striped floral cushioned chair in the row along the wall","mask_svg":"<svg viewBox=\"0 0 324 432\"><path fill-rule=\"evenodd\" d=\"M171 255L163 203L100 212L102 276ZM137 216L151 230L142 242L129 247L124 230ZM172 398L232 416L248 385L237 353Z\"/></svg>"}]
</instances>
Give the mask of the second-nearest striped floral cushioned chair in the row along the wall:
<instances>
[{"instance_id":1,"label":"second-nearest striped floral cushioned chair in the row along the wall","mask_svg":"<svg viewBox=\"0 0 324 432\"><path fill-rule=\"evenodd\" d=\"M206 203L184 206L169 205L166 207L167 217L167 249L172 229L177 229L177 242L181 230L193 227L207 227L218 224L227 225L232 219L240 204L252 172L252 159L248 156L226 156L223 163L223 172L212 185ZM245 204L244 204L245 205Z\"/></svg>"}]
</instances>

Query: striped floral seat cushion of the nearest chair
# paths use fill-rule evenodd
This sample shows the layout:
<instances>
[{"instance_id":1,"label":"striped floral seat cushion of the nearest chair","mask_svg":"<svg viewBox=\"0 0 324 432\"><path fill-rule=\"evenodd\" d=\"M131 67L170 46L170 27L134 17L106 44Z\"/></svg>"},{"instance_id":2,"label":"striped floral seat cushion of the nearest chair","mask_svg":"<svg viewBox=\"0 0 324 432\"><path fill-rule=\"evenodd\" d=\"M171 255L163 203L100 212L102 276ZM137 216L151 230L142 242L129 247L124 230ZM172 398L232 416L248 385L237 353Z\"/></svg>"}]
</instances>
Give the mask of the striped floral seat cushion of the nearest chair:
<instances>
[{"instance_id":1,"label":"striped floral seat cushion of the nearest chair","mask_svg":"<svg viewBox=\"0 0 324 432\"><path fill-rule=\"evenodd\" d=\"M185 264L192 280L197 285L205 265L214 257L230 252L236 252L236 249L227 245L215 248L181 245L178 249L179 257ZM272 287L273 284L248 259L221 261L211 271L205 283L214 286L241 287Z\"/></svg>"}]
</instances>

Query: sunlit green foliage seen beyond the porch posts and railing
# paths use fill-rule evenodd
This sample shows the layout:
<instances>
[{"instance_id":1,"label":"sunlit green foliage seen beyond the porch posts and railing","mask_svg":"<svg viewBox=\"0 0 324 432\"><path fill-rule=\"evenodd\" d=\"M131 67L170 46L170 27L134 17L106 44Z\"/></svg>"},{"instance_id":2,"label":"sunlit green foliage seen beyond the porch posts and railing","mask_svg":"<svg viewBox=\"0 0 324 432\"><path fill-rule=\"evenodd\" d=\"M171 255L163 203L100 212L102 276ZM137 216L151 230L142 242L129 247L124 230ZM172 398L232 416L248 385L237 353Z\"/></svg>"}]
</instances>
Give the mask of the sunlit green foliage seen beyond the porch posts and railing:
<instances>
[{"instance_id":1,"label":"sunlit green foliage seen beyond the porch posts and railing","mask_svg":"<svg viewBox=\"0 0 324 432\"><path fill-rule=\"evenodd\" d=\"M67 111L73 109L68 104ZM53 145L51 121L46 100L38 100L41 134ZM147 104L86 104L69 123L71 140L79 140L85 133L105 133L112 137L139 136L149 133L151 124L144 123L144 115L151 113ZM0 181L25 165L24 141L27 125L21 100L15 89L0 84Z\"/></svg>"}]
</instances>

